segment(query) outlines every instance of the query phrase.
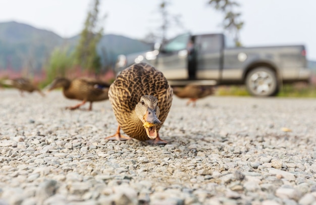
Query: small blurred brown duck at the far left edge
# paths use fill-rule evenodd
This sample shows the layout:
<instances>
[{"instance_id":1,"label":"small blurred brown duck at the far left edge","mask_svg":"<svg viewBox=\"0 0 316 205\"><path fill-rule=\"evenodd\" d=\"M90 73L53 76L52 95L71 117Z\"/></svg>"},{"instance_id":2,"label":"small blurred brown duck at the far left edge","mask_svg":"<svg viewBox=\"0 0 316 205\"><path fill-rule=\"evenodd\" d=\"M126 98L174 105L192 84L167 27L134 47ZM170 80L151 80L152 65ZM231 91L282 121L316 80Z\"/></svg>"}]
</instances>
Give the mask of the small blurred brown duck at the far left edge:
<instances>
[{"instance_id":1,"label":"small blurred brown duck at the far left edge","mask_svg":"<svg viewBox=\"0 0 316 205\"><path fill-rule=\"evenodd\" d=\"M23 96L24 91L37 91L40 95L45 96L45 94L27 78L7 79L3 80L2 84L17 88L20 91L21 96Z\"/></svg>"}]
</instances>

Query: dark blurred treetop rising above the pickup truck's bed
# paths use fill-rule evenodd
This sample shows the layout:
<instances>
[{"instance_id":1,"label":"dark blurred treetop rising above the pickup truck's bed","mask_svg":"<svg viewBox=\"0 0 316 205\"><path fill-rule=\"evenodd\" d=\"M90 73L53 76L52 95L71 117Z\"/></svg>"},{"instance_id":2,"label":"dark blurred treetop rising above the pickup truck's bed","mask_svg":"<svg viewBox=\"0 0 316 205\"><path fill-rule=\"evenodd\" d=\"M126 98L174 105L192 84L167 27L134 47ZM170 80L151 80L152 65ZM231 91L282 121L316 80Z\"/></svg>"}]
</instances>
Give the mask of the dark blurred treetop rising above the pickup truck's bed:
<instances>
[{"instance_id":1,"label":"dark blurred treetop rising above the pickup truck's bed","mask_svg":"<svg viewBox=\"0 0 316 205\"><path fill-rule=\"evenodd\" d=\"M233 11L235 7L240 5L231 0L210 0L208 4L225 14L223 28L233 34L236 46L241 46L239 31L244 22L240 20L241 14Z\"/></svg>"}]
</instances>

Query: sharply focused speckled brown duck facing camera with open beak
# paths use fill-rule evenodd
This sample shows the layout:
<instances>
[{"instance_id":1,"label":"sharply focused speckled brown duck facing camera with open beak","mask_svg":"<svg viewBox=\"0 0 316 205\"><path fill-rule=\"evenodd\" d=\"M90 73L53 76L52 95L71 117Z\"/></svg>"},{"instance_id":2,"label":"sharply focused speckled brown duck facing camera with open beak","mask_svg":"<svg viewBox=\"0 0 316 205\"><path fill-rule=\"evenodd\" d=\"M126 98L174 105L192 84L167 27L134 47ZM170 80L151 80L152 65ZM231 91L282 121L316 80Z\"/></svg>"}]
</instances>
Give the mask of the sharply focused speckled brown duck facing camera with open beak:
<instances>
[{"instance_id":1,"label":"sharply focused speckled brown duck facing camera with open beak","mask_svg":"<svg viewBox=\"0 0 316 205\"><path fill-rule=\"evenodd\" d=\"M123 70L112 83L109 100L119 123L106 139L137 139L166 144L159 136L172 103L173 91L162 72L146 63ZM122 129L128 136L120 134Z\"/></svg>"}]
</instances>

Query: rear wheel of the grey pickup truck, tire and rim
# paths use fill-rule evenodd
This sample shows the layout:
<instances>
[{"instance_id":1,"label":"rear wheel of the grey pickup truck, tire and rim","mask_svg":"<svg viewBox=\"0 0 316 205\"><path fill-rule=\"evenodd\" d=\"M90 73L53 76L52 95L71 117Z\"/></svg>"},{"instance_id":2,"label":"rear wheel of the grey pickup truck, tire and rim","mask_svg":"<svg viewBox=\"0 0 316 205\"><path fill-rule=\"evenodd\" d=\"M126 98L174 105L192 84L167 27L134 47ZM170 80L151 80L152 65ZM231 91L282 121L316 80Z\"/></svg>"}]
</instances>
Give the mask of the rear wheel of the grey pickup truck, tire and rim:
<instances>
[{"instance_id":1,"label":"rear wheel of the grey pickup truck, tire and rim","mask_svg":"<svg viewBox=\"0 0 316 205\"><path fill-rule=\"evenodd\" d=\"M279 91L276 73L268 67L251 70L245 81L248 92L254 96L274 96Z\"/></svg>"}]
</instances>

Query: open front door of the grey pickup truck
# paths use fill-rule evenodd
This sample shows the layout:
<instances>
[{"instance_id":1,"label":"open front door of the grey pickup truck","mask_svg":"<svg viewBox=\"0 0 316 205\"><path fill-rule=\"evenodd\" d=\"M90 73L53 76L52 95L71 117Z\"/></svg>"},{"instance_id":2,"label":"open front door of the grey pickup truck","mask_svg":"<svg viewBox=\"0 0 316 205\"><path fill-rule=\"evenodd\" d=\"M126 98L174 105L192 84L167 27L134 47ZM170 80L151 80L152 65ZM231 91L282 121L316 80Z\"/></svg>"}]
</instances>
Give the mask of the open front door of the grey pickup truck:
<instances>
[{"instance_id":1,"label":"open front door of the grey pickup truck","mask_svg":"<svg viewBox=\"0 0 316 205\"><path fill-rule=\"evenodd\" d=\"M164 73L167 79L187 79L187 44L190 33L178 35L162 45L156 59L156 68Z\"/></svg>"}]
</instances>

